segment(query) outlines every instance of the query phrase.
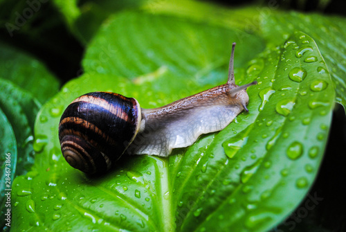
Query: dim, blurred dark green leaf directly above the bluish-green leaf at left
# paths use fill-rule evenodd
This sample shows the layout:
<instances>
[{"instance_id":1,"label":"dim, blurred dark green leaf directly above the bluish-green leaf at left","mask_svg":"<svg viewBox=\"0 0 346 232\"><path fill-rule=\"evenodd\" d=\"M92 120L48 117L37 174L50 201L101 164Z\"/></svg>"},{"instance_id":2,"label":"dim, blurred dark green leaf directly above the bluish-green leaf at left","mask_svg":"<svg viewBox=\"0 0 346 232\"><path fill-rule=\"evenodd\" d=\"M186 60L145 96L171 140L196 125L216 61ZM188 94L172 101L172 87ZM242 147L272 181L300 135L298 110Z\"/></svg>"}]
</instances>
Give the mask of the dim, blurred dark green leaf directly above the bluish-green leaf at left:
<instances>
[{"instance_id":1,"label":"dim, blurred dark green leaf directly above the bluish-green leaf at left","mask_svg":"<svg viewBox=\"0 0 346 232\"><path fill-rule=\"evenodd\" d=\"M42 103L57 93L59 81L41 62L2 43L0 51L0 78L26 89Z\"/></svg>"}]
</instances>

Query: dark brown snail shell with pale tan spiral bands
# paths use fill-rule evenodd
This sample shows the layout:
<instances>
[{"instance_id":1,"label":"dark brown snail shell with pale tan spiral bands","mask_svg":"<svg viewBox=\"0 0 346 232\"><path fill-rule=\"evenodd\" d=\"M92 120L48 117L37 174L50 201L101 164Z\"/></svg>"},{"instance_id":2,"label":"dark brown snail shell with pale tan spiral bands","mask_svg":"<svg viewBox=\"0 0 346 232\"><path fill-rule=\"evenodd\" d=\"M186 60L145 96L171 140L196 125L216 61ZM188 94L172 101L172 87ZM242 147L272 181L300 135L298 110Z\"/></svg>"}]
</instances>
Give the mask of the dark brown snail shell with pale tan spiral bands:
<instances>
[{"instance_id":1,"label":"dark brown snail shell with pale tan spiral bands","mask_svg":"<svg viewBox=\"0 0 346 232\"><path fill-rule=\"evenodd\" d=\"M140 119L134 98L86 93L73 100L60 119L62 154L73 168L89 174L106 172L134 140Z\"/></svg>"}]
</instances>

